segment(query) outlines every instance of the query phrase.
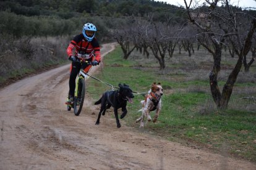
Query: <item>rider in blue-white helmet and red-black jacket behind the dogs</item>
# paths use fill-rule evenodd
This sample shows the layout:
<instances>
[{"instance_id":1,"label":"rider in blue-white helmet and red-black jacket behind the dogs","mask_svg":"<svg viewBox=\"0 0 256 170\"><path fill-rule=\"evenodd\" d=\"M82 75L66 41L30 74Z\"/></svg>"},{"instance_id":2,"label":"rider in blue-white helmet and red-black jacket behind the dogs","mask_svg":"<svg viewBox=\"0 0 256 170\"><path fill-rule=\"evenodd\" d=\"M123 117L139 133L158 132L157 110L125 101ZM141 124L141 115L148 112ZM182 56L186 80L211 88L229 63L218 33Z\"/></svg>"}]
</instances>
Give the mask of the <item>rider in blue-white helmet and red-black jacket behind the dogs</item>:
<instances>
[{"instance_id":1,"label":"rider in blue-white helmet and red-black jacket behind the dogs","mask_svg":"<svg viewBox=\"0 0 256 170\"><path fill-rule=\"evenodd\" d=\"M69 60L72 61L70 65L70 77L69 77L69 95L67 97L66 104L72 104L74 102L75 93L75 78L83 68L86 73L90 70L92 65L98 65L100 63L100 45L95 38L96 26L92 23L85 23L81 34L77 34L72 41L70 41L67 47L67 55ZM75 52L73 54L73 49ZM80 62L76 62L77 59L85 59L88 62L92 62L92 65L87 65Z\"/></svg>"}]
</instances>

